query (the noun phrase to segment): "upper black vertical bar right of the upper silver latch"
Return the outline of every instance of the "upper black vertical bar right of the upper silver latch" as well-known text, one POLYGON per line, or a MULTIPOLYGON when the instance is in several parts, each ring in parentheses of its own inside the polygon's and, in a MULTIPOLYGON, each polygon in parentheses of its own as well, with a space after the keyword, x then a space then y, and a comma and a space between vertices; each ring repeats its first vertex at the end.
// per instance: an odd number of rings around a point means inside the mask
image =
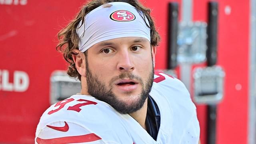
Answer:
POLYGON ((207 27, 207 66, 213 66, 217 62, 217 33, 218 33, 218 3, 208 3, 208 27, 207 27))

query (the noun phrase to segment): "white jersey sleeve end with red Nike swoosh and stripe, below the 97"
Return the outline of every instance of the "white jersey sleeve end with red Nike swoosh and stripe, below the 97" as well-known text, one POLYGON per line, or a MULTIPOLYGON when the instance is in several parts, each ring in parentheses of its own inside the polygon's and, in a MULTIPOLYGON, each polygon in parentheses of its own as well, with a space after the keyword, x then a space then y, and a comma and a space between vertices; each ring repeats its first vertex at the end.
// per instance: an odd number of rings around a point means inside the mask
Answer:
POLYGON ((52 122, 36 132, 36 144, 107 144, 100 136, 74 122, 52 122))

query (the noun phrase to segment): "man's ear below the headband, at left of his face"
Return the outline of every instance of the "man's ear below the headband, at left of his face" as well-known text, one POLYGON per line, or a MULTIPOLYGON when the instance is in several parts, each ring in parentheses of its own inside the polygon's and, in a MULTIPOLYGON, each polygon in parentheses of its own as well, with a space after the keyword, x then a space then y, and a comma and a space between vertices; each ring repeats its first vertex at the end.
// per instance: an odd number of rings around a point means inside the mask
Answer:
POLYGON ((74 53, 72 55, 72 58, 74 60, 74 63, 76 64, 76 70, 81 76, 85 76, 86 74, 86 68, 85 68, 85 55, 83 52, 80 52, 79 50, 72 50, 74 53))

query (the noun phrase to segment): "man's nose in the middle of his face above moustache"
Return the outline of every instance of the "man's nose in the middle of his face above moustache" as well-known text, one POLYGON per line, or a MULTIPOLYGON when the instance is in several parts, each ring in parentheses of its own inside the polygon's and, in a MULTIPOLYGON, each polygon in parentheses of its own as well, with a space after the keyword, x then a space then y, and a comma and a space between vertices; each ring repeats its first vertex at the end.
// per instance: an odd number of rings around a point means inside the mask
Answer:
POLYGON ((134 64, 131 55, 128 51, 120 52, 118 57, 117 69, 119 71, 132 71, 134 70, 134 64))

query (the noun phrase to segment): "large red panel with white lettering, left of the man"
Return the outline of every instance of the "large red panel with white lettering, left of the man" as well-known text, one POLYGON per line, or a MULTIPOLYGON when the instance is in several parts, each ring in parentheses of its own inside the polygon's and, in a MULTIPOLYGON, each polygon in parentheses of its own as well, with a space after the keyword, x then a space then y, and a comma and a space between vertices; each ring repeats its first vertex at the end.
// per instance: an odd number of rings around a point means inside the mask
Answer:
POLYGON ((82 0, 28 0, 27 5, 0 5, 0 70, 24 71, 25 92, 0 90, 0 143, 34 143, 36 125, 49 103, 50 74, 65 70, 56 52, 56 34, 74 17, 82 0))

